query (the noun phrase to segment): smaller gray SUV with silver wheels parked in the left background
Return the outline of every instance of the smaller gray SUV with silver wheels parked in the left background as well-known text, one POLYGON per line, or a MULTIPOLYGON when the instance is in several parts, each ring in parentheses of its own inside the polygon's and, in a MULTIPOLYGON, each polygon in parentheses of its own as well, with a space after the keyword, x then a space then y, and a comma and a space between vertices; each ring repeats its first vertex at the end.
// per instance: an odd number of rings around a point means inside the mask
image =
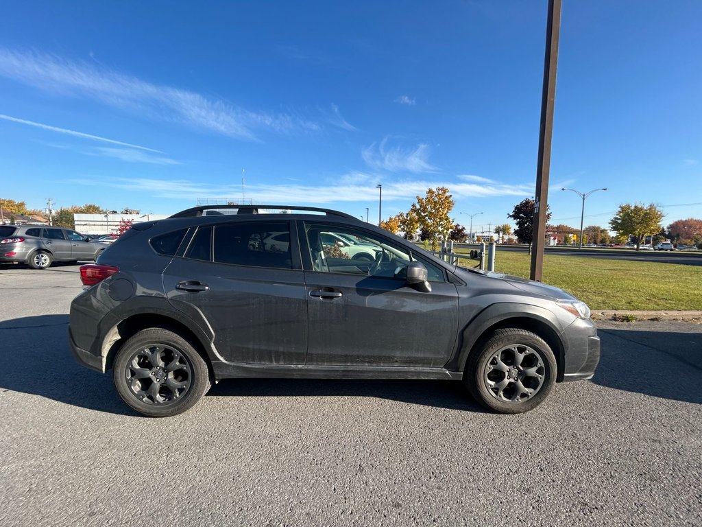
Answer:
POLYGON ((95 260, 106 247, 68 228, 0 226, 0 263, 27 263, 34 269, 46 269, 54 261, 95 260))

